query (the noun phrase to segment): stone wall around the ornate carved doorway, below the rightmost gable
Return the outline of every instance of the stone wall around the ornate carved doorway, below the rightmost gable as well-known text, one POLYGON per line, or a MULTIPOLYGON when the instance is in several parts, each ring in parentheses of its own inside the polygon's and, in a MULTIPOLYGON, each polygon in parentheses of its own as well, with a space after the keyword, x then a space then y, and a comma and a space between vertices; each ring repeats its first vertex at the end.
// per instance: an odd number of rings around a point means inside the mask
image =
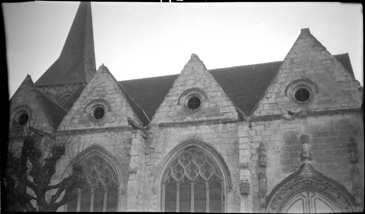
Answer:
MULTIPOLYGON (((258 147, 262 142, 267 154, 268 195, 281 180, 296 172, 302 152, 300 136, 309 135, 310 152, 314 168, 325 176, 344 185, 352 193, 352 178, 348 160, 347 143, 350 137, 364 136, 361 113, 318 115, 292 120, 257 121, 251 123, 253 164, 254 210, 260 211, 258 197, 258 147)), ((361 140, 358 144, 363 145, 361 140)), ((364 157, 364 147, 358 147, 364 157)), ((364 167, 361 169, 364 172, 364 167)), ((364 173, 362 174, 364 180, 364 173)), ((364 192, 364 189, 363 189, 364 192)))

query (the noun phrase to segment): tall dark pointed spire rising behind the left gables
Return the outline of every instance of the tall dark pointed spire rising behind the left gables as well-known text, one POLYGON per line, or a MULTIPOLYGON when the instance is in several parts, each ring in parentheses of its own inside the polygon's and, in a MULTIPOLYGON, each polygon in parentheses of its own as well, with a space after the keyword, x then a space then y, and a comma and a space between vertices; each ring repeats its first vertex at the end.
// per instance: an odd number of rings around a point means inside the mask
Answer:
POLYGON ((61 54, 35 85, 87 83, 95 71, 91 3, 81 2, 61 54))

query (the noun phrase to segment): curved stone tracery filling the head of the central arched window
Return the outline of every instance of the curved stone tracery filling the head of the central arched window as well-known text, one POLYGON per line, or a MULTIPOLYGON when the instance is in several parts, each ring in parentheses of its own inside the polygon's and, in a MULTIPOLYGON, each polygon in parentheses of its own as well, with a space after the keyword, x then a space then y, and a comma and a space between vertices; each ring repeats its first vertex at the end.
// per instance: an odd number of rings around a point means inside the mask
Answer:
POLYGON ((164 182, 222 180, 214 162, 194 148, 183 152, 166 170, 164 182))

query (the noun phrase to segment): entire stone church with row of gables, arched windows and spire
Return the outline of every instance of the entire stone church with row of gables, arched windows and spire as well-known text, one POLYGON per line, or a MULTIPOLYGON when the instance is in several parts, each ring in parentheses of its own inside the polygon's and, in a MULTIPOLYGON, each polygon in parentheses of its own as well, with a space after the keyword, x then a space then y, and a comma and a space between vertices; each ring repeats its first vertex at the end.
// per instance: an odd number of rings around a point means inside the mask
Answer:
POLYGON ((348 54, 308 28, 283 61, 207 70, 192 54, 180 74, 117 81, 81 2, 59 58, 11 98, 9 141, 83 143, 90 188, 59 211, 362 212, 363 117, 348 54))

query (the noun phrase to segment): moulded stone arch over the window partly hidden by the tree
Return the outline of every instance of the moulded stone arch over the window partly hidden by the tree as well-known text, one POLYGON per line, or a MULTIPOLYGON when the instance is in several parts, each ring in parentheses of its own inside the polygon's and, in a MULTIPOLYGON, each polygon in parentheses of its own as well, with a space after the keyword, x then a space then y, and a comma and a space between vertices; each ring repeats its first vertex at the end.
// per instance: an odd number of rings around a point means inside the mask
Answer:
MULTIPOLYGON (((87 157, 92 157, 94 155, 104 159, 107 163, 109 163, 110 167, 115 172, 118 180, 118 198, 119 198, 117 209, 118 211, 123 211, 122 210, 123 200, 121 200, 121 198, 122 195, 125 193, 127 184, 126 184, 126 179, 124 177, 123 169, 119 161, 109 151, 103 148, 103 146, 97 143, 91 144, 88 148, 81 151, 76 157, 74 157, 73 160, 84 159, 87 157)), ((71 173, 72 173, 72 161, 66 167, 59 181, 61 181, 63 178, 67 177, 71 173)))

